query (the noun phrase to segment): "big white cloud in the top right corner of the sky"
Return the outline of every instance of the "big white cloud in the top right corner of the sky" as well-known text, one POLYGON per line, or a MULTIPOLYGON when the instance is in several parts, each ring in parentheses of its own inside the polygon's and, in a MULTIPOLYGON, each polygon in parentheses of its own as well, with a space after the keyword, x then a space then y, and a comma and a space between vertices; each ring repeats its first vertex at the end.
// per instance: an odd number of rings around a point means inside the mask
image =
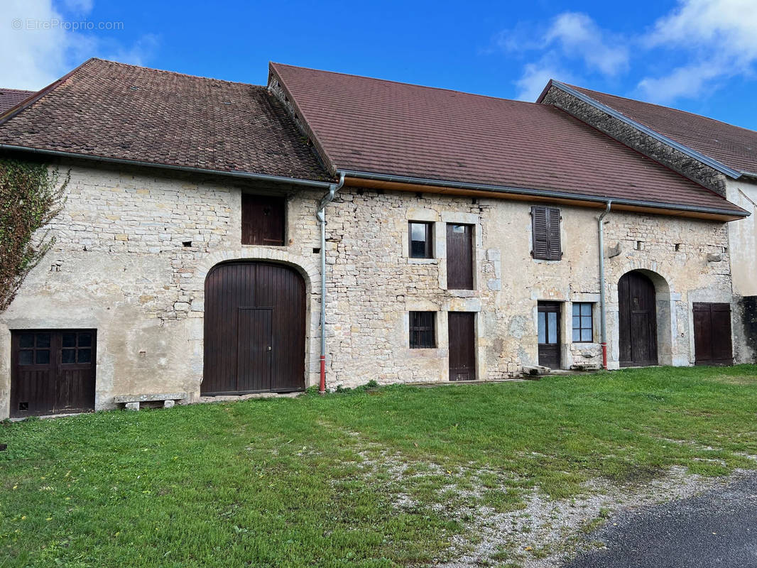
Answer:
POLYGON ((690 64, 639 82, 646 98, 669 102, 693 98, 718 80, 751 74, 757 61, 757 4, 754 0, 679 0, 643 38, 648 48, 684 51, 690 64))

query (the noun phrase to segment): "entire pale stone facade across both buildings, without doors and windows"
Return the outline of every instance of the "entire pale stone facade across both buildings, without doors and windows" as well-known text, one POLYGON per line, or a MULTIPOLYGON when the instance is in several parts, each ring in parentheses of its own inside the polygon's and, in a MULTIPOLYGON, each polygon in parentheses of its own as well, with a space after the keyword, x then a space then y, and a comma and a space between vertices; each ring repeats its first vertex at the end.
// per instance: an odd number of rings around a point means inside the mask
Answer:
MULTIPOLYGON (((72 164, 55 247, 0 314, 0 416, 8 415, 10 329, 96 328, 96 407, 114 395, 188 392, 202 379, 204 278, 221 261, 268 259, 307 282, 306 384, 317 384, 321 191, 160 177, 72 164), (241 192, 288 195, 284 247, 242 246, 241 192)), ((537 363, 537 301, 562 301, 563 367, 600 363, 598 210, 562 207, 562 261, 531 258, 531 204, 344 188, 327 208, 329 385, 447 381, 449 311, 475 312, 479 379, 537 363), (410 220, 434 223, 435 258, 408 257, 410 220), (469 223, 474 290, 447 289, 446 223, 469 223), (594 304, 594 342, 573 344, 572 302, 594 304), (435 311, 437 347, 410 349, 409 311, 435 311)), ((731 301, 726 226, 606 217, 610 363, 618 364, 617 282, 646 270, 658 292, 661 363, 691 364, 691 303, 731 301), (723 261, 708 261, 708 254, 723 261)))

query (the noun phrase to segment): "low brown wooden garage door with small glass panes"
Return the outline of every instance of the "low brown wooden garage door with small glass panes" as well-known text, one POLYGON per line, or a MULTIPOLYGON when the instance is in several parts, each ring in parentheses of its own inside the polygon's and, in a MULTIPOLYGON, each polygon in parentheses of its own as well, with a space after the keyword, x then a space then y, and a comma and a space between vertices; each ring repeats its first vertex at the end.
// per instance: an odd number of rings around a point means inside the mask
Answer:
POLYGON ((11 417, 95 409, 95 329, 11 332, 11 417))

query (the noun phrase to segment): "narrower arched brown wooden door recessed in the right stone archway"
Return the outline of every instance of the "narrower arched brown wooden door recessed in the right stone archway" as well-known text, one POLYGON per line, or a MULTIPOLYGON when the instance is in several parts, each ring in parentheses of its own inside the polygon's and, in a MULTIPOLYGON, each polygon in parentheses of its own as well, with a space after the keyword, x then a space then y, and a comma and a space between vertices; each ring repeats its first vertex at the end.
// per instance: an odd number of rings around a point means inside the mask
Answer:
POLYGON ((655 285, 640 272, 618 281, 620 366, 657 364, 657 307, 655 285))

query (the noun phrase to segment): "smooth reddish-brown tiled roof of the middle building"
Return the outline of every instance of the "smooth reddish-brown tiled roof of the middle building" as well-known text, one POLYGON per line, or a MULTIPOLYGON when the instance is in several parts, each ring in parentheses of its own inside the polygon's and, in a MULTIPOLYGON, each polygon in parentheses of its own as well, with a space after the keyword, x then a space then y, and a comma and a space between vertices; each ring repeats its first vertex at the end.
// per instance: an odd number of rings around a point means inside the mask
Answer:
POLYGON ((741 211, 557 108, 283 64, 271 71, 335 169, 741 211))

